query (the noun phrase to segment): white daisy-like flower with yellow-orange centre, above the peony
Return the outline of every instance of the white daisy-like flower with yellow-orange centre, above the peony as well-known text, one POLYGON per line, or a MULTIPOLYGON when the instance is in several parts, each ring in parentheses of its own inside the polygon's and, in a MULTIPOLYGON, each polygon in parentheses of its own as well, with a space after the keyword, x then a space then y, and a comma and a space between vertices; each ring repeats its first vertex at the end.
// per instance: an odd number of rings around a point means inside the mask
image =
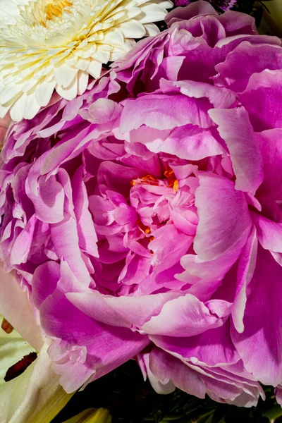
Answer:
POLYGON ((89 75, 159 30, 170 0, 0 0, 0 118, 33 118, 56 90, 73 99, 89 75))

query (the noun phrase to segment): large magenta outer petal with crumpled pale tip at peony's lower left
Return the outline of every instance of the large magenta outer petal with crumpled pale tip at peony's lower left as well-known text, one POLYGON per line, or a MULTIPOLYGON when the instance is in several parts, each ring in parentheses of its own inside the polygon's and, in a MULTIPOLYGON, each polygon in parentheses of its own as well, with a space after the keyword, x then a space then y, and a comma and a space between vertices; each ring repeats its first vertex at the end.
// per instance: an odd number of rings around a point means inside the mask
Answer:
POLYGON ((49 355, 67 392, 110 372, 149 343, 146 336, 99 323, 71 304, 65 292, 82 288, 63 262, 61 280, 39 309, 45 333, 59 339, 49 347, 49 355))

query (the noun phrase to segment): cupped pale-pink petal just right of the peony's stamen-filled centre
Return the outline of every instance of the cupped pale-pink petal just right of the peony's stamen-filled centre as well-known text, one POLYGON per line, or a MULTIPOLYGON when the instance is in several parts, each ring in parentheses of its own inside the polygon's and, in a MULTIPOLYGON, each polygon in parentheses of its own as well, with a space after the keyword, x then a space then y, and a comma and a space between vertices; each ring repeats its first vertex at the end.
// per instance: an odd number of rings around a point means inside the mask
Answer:
POLYGON ((203 260, 213 260, 227 250, 245 245, 252 221, 243 192, 231 180, 200 173, 195 193, 199 224, 194 250, 203 260), (209 207, 207 207, 207 204, 209 207))

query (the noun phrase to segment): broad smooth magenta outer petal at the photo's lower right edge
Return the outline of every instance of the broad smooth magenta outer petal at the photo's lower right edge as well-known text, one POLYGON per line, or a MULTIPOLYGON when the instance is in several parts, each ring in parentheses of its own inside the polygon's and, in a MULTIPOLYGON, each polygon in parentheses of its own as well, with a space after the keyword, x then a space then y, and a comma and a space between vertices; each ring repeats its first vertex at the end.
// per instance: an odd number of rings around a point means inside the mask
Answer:
POLYGON ((247 371, 262 384, 273 386, 282 380, 281 277, 281 266, 269 252, 259 248, 252 292, 245 307, 245 329, 238 333, 231 328, 233 343, 247 371))

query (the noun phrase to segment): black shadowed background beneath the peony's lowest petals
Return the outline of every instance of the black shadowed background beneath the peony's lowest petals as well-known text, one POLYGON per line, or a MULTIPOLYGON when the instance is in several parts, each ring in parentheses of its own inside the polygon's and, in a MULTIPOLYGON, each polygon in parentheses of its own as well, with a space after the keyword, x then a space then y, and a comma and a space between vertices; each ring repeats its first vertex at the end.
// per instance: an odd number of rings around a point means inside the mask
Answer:
POLYGON ((51 423, 63 423, 91 407, 107 408, 113 423, 282 423, 282 409, 273 388, 264 390, 266 401, 259 400, 257 407, 251 408, 215 403, 208 397, 200 400, 179 390, 159 395, 143 381, 137 363, 130 360, 75 393, 51 423))

